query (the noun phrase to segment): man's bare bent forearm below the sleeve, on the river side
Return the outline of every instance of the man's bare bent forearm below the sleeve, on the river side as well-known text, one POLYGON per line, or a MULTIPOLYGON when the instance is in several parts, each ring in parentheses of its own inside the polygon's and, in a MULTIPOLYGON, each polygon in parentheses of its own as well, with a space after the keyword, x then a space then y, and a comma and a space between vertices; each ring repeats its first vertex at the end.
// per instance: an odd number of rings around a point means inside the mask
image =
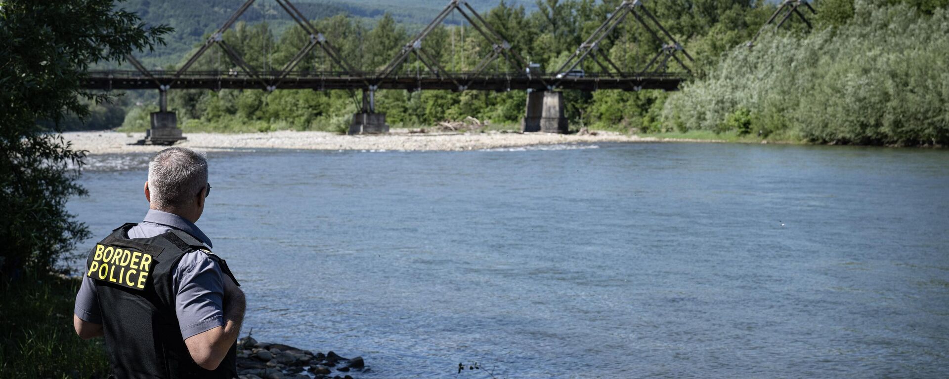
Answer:
POLYGON ((244 321, 246 301, 244 292, 227 275, 221 275, 224 284, 223 308, 224 326, 217 326, 199 334, 185 338, 184 343, 191 352, 191 358, 205 370, 217 369, 224 357, 231 351, 240 334, 244 321))

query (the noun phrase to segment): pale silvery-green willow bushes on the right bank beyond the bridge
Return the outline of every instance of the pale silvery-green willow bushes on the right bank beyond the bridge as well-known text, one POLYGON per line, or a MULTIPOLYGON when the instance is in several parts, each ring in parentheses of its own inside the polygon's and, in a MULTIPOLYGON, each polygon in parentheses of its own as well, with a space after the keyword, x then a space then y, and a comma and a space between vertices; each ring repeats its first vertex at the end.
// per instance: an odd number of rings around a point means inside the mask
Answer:
POLYGON ((859 1, 845 26, 735 48, 686 85, 663 118, 681 130, 733 128, 818 143, 949 143, 949 14, 859 1))

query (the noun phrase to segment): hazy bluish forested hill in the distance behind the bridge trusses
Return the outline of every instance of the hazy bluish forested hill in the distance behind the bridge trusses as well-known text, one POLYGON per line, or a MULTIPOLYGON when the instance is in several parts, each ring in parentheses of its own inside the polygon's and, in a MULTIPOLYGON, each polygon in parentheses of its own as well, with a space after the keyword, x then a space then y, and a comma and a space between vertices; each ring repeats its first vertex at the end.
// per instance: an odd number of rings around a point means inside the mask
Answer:
MULTIPOLYGON (((469 3, 478 11, 486 11, 499 1, 470 0, 469 3)), ((185 53, 224 24, 243 3, 244 0, 126 0, 118 3, 118 7, 138 13, 148 25, 175 28, 175 33, 166 39, 168 45, 139 56, 146 65, 157 67, 179 63, 185 53)), ((388 12, 401 24, 420 28, 435 18, 448 0, 292 0, 292 3, 311 20, 347 14, 364 20, 366 25, 374 25, 388 12)), ((530 0, 507 0, 507 3, 534 7, 530 0)), ((239 20, 250 24, 267 22, 277 30, 292 23, 273 0, 257 0, 239 20)))

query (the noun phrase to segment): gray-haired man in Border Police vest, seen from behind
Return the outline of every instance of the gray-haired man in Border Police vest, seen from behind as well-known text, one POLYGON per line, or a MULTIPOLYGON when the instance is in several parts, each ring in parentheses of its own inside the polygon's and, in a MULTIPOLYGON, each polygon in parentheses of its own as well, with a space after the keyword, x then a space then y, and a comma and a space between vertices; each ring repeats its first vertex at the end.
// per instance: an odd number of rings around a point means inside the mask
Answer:
POLYGON ((73 325, 84 339, 104 335, 119 379, 236 377, 244 294, 195 226, 210 192, 204 156, 161 151, 148 165, 144 221, 89 253, 73 325))

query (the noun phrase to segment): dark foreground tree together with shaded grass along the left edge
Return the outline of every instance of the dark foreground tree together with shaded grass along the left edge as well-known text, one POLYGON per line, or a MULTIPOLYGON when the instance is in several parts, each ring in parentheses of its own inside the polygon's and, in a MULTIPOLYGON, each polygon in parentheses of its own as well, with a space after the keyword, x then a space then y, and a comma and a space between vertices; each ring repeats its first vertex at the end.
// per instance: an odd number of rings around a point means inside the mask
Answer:
POLYGON ((71 331, 76 282, 49 274, 89 234, 65 209, 85 193, 74 181, 84 152, 50 132, 109 100, 80 89, 90 64, 151 48, 166 31, 143 29, 112 0, 0 0, 0 377, 103 371, 102 346, 71 331))

